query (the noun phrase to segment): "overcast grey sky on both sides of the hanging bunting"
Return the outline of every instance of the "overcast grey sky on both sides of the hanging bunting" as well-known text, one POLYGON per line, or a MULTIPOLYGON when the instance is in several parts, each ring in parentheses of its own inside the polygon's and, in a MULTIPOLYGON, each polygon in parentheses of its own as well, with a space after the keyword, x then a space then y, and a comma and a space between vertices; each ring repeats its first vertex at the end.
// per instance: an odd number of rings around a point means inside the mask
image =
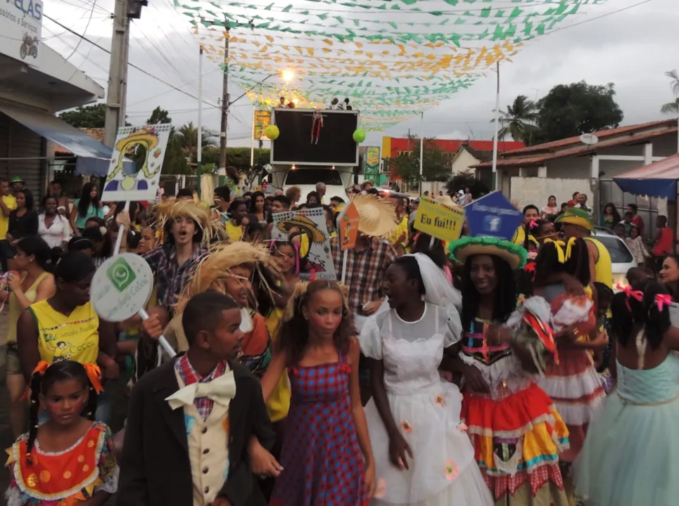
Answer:
MULTIPOLYGON (((662 119, 662 103, 672 100, 667 70, 679 68, 678 0, 607 0, 587 6, 583 14, 559 25, 562 30, 527 41, 511 63, 500 67, 500 107, 505 109, 519 94, 540 98, 556 84, 585 80, 588 84, 616 87, 616 101, 624 112, 623 124, 662 119), (613 13, 594 19, 606 13, 613 13), (591 19, 588 22, 585 20, 591 19), (574 23, 580 25, 571 26, 574 23)), ((129 62, 189 94, 174 91, 158 79, 129 69, 127 115, 132 124, 143 124, 157 105, 170 111, 172 122, 180 125, 197 120, 198 41, 183 15, 174 11, 170 0, 152 0, 141 20, 133 22, 129 62)), ((113 0, 46 0, 44 11, 75 32, 85 33, 110 48, 113 0), (89 20, 90 12, 92 13, 89 20), (88 25, 89 20, 89 25, 88 25)), ((44 20, 42 37, 46 44, 80 67, 106 89, 109 55, 99 48, 44 20)), ((203 124, 219 130, 220 113, 215 107, 222 93, 222 75, 214 63, 203 67, 203 124)), ((231 98, 242 91, 229 87, 231 98)), ((489 139, 493 136, 495 74, 488 72, 467 90, 427 110, 424 135, 439 138, 489 139)), ((250 145, 252 105, 242 98, 229 115, 229 145, 250 145)), ((409 129, 419 134, 420 120, 412 119, 386 131, 371 133, 366 145, 379 145, 381 136, 405 136, 409 129)))

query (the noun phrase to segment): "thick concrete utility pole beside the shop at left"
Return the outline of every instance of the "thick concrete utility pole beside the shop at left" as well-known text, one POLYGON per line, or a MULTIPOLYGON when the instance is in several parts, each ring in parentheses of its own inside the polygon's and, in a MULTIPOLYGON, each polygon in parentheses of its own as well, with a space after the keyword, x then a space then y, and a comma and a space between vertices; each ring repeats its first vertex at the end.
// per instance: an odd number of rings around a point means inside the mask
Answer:
POLYGON ((141 18, 141 8, 147 5, 147 0, 115 0, 103 137, 109 148, 113 148, 118 128, 125 126, 129 20, 141 18))

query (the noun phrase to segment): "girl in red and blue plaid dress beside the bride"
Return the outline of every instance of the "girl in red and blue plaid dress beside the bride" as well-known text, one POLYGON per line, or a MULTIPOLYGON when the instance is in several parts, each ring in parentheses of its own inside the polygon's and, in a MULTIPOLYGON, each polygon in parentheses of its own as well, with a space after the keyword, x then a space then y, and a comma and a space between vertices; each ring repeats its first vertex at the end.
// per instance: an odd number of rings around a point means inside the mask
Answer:
POLYGON ((292 398, 272 506, 361 506, 375 467, 358 385, 360 346, 336 281, 298 283, 269 368, 265 400, 283 375, 292 398))

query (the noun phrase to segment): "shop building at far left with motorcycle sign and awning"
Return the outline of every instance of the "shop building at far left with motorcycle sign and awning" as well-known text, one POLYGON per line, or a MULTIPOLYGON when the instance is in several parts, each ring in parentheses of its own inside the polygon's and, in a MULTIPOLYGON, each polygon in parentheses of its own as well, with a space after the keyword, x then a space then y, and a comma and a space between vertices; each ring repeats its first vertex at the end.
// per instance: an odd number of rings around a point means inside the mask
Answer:
POLYGON ((111 150, 54 116, 103 98, 104 90, 41 41, 42 1, 21 6, 8 1, 0 15, 0 177, 21 176, 39 197, 52 143, 82 157, 110 158, 111 150))

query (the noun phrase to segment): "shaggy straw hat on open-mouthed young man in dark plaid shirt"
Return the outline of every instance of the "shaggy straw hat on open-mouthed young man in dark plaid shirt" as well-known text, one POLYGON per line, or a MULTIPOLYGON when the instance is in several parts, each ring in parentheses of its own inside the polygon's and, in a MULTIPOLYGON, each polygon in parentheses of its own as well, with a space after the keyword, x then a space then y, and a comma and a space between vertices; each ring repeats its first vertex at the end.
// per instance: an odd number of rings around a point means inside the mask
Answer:
POLYGON ((167 223, 175 218, 189 218, 201 229, 203 245, 209 246, 215 242, 227 240, 226 229, 222 223, 222 216, 214 209, 193 200, 167 199, 156 206, 156 230, 164 230, 167 223))

